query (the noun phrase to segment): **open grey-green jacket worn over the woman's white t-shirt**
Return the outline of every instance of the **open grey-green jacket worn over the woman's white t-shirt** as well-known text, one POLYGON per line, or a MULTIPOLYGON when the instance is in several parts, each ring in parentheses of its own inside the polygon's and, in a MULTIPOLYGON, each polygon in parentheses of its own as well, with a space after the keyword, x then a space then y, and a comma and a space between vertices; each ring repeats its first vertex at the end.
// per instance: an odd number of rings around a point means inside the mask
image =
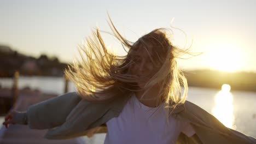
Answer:
MULTIPOLYGON (((104 124, 119 116, 129 98, 116 98, 110 103, 90 103, 71 92, 32 105, 15 119, 19 123, 27 123, 31 129, 49 129, 44 136, 46 139, 92 136, 107 132, 104 124)), ((171 115, 190 122, 203 143, 256 143, 253 137, 226 128, 210 113, 189 101, 174 109, 171 115)), ((195 142, 181 133, 176 143, 195 142)))

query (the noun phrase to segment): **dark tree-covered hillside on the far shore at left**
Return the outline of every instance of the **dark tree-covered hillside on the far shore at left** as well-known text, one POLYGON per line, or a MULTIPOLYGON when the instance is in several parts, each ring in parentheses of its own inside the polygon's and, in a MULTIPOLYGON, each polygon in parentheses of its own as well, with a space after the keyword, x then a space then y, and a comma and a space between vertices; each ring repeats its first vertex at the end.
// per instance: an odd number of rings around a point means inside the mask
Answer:
POLYGON ((57 57, 42 54, 38 58, 22 55, 8 46, 0 45, 0 77, 12 77, 16 70, 21 75, 62 76, 66 63, 57 57))

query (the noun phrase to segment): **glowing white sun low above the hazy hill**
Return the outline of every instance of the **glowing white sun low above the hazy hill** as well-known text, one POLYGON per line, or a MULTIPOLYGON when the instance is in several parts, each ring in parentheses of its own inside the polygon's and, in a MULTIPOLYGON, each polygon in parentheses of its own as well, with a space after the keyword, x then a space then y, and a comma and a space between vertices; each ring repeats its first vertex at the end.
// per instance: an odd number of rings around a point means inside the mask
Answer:
POLYGON ((207 55, 207 63, 211 69, 235 72, 245 64, 243 53, 231 44, 213 44, 207 55))

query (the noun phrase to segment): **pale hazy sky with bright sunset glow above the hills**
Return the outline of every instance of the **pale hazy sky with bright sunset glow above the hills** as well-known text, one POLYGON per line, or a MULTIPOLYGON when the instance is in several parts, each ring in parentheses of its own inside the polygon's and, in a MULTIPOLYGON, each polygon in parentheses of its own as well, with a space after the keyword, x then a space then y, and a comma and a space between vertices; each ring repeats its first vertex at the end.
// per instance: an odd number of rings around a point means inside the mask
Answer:
MULTIPOLYGON (((182 69, 256 72, 256 3, 252 1, 54 1, 0 0, 0 45, 26 55, 42 53, 62 62, 78 58, 96 26, 110 32, 107 11, 122 35, 136 41, 155 28, 171 26, 173 45, 202 55, 179 59, 182 69), (187 42, 186 42, 187 41, 187 42), (193 42, 193 43, 192 43, 193 42)), ((118 55, 125 52, 103 34, 118 55)))

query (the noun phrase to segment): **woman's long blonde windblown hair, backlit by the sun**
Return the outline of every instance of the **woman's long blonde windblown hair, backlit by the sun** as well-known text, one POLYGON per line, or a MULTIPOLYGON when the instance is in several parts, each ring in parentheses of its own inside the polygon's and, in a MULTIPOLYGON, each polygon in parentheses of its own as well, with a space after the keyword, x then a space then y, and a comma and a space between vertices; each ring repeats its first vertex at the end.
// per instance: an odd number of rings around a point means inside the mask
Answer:
POLYGON ((117 31, 110 19, 112 35, 117 38, 123 48, 129 49, 126 56, 117 56, 109 52, 97 28, 91 37, 86 38, 86 44, 79 45, 82 61, 74 62, 65 70, 65 74, 77 88, 78 94, 89 101, 107 101, 116 97, 127 97, 132 92, 139 91, 136 86, 139 77, 132 75, 130 68, 133 55, 139 47, 153 47, 153 64, 161 63, 161 67, 144 89, 149 89, 156 83, 160 85, 156 97, 158 103, 164 101, 165 107, 176 107, 183 104, 187 98, 188 84, 183 72, 178 68, 176 59, 188 49, 182 50, 173 46, 166 36, 167 29, 159 28, 143 35, 135 43, 126 40, 117 31), (184 92, 182 95, 182 86, 184 92))

